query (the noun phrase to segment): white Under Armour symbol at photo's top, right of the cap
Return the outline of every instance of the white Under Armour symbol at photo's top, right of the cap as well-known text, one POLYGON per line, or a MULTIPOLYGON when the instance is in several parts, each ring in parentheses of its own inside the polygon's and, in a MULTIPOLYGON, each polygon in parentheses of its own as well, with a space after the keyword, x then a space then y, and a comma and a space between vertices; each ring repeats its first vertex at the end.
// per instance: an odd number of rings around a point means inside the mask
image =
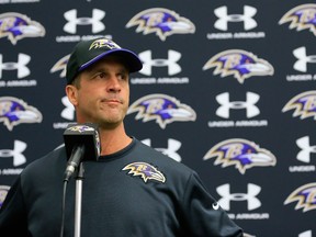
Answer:
POLYGON ((244 22, 244 29, 246 31, 257 26, 257 22, 252 19, 257 13, 257 9, 250 5, 244 5, 244 14, 229 14, 227 13, 227 7, 223 5, 214 10, 214 14, 218 18, 214 27, 221 31, 227 31, 228 22, 244 22))

